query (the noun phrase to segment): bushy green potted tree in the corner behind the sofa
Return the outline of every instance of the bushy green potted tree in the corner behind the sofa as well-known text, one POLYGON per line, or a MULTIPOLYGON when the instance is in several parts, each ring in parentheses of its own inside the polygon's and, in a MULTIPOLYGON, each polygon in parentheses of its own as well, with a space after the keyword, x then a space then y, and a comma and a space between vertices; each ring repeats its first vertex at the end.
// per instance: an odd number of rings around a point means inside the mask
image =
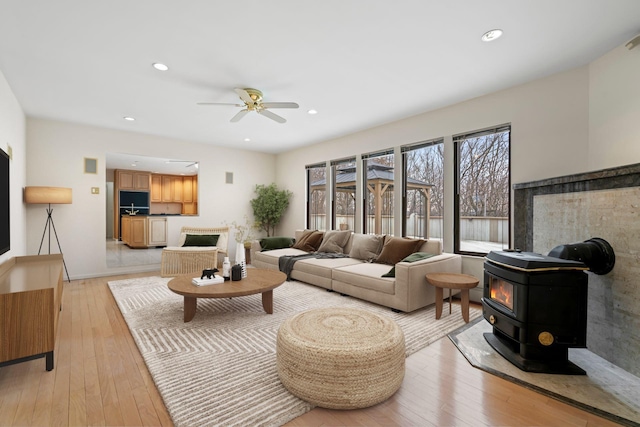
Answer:
POLYGON ((276 231, 282 215, 289 207, 289 200, 293 193, 289 190, 280 190, 275 183, 270 185, 256 185, 255 199, 251 200, 253 217, 256 220, 255 227, 267 232, 270 237, 276 231))

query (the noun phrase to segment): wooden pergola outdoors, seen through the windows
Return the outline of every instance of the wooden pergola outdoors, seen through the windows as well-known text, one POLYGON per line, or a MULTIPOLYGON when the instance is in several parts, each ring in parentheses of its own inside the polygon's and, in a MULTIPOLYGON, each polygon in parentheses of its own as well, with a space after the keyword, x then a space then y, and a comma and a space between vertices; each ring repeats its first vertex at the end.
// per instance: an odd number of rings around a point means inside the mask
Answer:
MULTIPOLYGON (((374 232, 376 234, 382 234, 382 207, 383 198, 385 194, 393 192, 394 188, 394 172, 392 166, 381 165, 375 162, 368 162, 367 165, 367 191, 373 195, 375 212, 374 214, 374 232)), ((342 193, 349 193, 349 195, 355 199, 356 193, 356 167, 347 166, 339 168, 336 171, 336 191, 342 193)), ((431 198, 430 192, 433 185, 419 181, 417 179, 407 179, 408 190, 418 190, 418 192, 425 198, 425 215, 424 215, 424 230, 425 236, 428 236, 429 231, 429 212, 431 210, 431 198)), ((312 182, 310 185, 311 191, 325 191, 326 179, 320 179, 312 182)))

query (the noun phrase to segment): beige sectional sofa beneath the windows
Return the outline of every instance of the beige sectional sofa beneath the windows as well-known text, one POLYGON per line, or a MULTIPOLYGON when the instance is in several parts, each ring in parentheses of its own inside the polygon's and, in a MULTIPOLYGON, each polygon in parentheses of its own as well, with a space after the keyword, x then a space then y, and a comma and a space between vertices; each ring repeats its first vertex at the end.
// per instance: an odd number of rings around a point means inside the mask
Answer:
MULTIPOLYGON (((326 238, 325 233, 325 238, 326 238)), ((296 231, 296 240, 303 230, 296 231)), ((353 253, 356 234, 350 233, 343 247, 345 254, 353 253)), ((362 236, 362 235, 361 235, 362 236)), ((384 236, 388 241, 391 236, 384 236)), ((396 238, 397 239, 397 238, 396 238)), ((361 238, 356 237, 357 241, 361 238)), ((430 258, 413 262, 397 262, 395 277, 382 277, 392 265, 379 264, 352 257, 334 259, 306 258, 295 262, 290 276, 294 280, 310 283, 352 297, 360 298, 394 310, 410 312, 435 302, 434 287, 427 283, 427 273, 460 273, 460 255, 442 252, 440 241, 425 241, 418 252, 433 254, 430 258)), ((292 247, 262 251, 260 241, 252 242, 251 264, 257 268, 279 269, 279 258, 284 255, 303 255, 306 251, 292 247)))

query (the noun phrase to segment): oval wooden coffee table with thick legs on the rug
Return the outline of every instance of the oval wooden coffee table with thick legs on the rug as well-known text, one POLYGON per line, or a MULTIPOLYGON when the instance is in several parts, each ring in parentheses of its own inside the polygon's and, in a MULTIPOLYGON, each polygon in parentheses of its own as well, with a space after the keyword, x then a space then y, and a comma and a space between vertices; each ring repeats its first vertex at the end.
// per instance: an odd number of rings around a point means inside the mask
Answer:
POLYGON ((191 279, 199 274, 184 274, 169 281, 169 289, 184 296, 184 321, 190 322, 196 315, 198 298, 231 298, 262 294, 262 307, 273 314, 273 290, 287 280, 280 271, 248 268, 247 277, 238 281, 227 281, 219 285, 196 286, 191 279))

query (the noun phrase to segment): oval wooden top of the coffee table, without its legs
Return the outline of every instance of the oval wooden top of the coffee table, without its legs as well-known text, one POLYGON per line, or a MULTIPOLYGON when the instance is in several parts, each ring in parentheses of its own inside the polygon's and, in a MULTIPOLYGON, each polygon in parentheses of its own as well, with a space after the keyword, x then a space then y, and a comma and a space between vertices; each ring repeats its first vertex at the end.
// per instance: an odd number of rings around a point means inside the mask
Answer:
POLYGON ((168 283, 173 292, 194 298, 231 298, 253 295, 277 288, 287 280, 287 275, 275 270, 247 268, 247 277, 237 281, 226 281, 218 285, 196 286, 191 279, 199 274, 183 274, 168 283))

